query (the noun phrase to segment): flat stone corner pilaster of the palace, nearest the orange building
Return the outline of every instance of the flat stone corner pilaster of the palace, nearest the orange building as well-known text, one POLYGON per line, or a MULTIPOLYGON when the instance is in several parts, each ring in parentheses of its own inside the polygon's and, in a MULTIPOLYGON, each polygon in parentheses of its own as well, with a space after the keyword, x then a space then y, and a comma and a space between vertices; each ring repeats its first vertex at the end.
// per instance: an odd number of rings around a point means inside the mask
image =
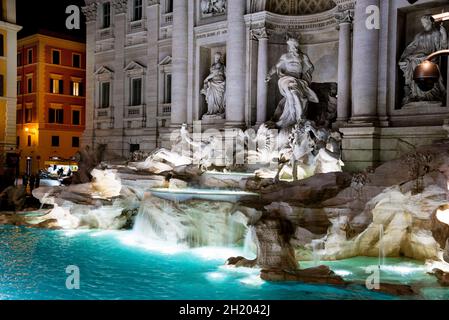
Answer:
POLYGON ((81 138, 81 146, 94 147, 95 134, 95 34, 97 31, 97 3, 83 7, 86 16, 86 130, 81 138))

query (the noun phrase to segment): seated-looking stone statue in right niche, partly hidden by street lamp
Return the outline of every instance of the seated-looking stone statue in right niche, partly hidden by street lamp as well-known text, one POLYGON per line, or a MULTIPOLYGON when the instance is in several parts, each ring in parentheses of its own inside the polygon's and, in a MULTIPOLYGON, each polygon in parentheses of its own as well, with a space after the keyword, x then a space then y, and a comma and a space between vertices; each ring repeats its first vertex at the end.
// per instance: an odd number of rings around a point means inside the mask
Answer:
POLYGON ((440 81, 428 92, 422 91, 413 80, 416 67, 427 56, 435 51, 448 48, 447 31, 443 25, 437 26, 431 15, 423 16, 421 23, 424 31, 416 35, 415 40, 405 49, 399 62, 405 76, 404 105, 418 101, 443 101, 446 95, 446 88, 441 76, 440 81))

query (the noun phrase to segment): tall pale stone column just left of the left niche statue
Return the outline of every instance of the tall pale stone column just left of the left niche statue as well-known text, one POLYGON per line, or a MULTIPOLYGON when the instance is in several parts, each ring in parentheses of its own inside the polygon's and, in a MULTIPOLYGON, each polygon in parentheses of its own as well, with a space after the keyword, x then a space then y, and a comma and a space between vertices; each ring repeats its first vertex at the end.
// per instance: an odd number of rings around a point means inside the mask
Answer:
POLYGON ((187 122, 188 1, 173 1, 173 71, 171 125, 187 122))

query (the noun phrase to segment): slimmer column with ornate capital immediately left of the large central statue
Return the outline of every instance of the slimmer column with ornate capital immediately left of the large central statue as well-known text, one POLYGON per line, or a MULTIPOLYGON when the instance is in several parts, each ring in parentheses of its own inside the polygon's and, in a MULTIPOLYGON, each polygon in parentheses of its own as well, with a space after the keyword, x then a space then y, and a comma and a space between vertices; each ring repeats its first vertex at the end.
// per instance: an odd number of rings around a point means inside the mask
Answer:
POLYGON ((257 61, 257 125, 267 121, 268 84, 268 33, 265 28, 254 30, 254 37, 259 40, 257 61))

